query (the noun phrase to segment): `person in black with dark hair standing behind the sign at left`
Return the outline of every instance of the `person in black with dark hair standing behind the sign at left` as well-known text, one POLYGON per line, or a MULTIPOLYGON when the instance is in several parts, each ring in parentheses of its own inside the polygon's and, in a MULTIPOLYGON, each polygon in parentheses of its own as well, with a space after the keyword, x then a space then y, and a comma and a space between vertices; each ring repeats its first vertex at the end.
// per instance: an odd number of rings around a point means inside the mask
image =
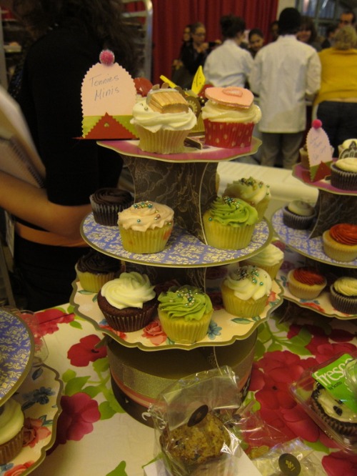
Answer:
POLYGON ((121 158, 82 136, 81 84, 103 49, 133 77, 136 42, 121 0, 1 0, 34 38, 18 101, 46 169, 44 188, 0 172, 0 207, 15 217, 14 262, 33 311, 68 302, 74 265, 88 252, 89 196, 116 187, 121 158))

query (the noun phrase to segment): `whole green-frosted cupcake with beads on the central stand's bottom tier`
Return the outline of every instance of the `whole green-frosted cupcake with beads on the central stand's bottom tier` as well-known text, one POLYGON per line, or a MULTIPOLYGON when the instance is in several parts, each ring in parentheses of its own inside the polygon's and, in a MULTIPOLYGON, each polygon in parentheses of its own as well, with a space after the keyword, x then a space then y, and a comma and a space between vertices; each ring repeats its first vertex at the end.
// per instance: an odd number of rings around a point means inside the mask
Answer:
POLYGON ((193 286, 170 287, 159 295, 159 319, 169 339, 193 344, 206 336, 213 314, 211 299, 193 286))

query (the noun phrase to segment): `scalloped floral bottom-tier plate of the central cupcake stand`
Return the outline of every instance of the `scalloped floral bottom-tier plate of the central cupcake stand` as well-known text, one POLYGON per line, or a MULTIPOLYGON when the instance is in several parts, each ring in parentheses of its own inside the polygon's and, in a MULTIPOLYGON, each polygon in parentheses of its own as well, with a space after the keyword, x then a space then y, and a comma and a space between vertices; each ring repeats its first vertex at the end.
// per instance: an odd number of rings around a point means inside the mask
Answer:
POLYGON ((83 317, 87 321, 94 324, 96 329, 101 330, 104 334, 108 334, 120 344, 126 347, 139 347, 139 349, 152 351, 162 349, 184 349, 190 350, 196 347, 211 347, 212 345, 228 345, 233 344, 236 340, 246 339, 249 337, 258 325, 268 319, 271 312, 280 306, 283 302, 283 289, 280 284, 273 281, 273 287, 266 308, 260 316, 251 319, 244 319, 228 314, 220 306, 215 306, 216 299, 221 300, 220 293, 210 294, 213 307, 217 309, 213 312, 210 327, 206 337, 194 344, 178 344, 171 341, 161 329, 159 317, 150 322, 144 329, 136 332, 119 332, 112 329, 106 322, 104 315, 96 302, 97 294, 84 290, 79 282, 73 282, 74 292, 71 295, 71 304, 75 308, 77 315, 83 317))

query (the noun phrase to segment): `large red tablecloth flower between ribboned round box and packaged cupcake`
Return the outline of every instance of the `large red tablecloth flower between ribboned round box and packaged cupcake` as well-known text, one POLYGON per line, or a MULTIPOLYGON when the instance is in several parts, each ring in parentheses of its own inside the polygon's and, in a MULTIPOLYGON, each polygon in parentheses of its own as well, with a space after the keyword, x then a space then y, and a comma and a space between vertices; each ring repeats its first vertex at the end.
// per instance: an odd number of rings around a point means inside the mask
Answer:
POLYGON ((308 442, 320 440, 328 447, 336 447, 289 390, 291 383, 315 364, 316 360, 311 357, 301 359, 288 351, 266 352, 253 364, 250 390, 256 391, 255 399, 261 404, 263 420, 283 432, 287 440, 301 437, 308 442))

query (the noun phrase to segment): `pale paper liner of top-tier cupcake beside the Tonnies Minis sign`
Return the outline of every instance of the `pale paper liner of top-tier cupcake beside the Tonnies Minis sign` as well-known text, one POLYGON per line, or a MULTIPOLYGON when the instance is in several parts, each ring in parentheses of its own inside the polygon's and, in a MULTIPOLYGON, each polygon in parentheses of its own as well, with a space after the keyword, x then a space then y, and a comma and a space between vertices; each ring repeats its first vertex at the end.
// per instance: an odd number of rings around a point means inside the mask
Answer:
POLYGON ((139 147, 145 152, 156 154, 178 154, 183 152, 185 141, 191 129, 186 131, 159 130, 151 132, 144 127, 135 124, 139 137, 139 147))

